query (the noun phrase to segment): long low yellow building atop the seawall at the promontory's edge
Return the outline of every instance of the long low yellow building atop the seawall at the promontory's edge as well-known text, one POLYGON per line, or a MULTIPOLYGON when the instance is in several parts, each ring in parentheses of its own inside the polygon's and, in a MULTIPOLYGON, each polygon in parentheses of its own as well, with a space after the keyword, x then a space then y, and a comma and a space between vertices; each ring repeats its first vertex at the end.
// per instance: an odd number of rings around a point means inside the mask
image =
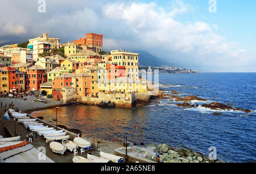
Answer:
POLYGON ((133 78, 119 77, 112 80, 99 80, 100 91, 112 91, 118 93, 130 93, 130 92, 146 92, 147 84, 133 78))

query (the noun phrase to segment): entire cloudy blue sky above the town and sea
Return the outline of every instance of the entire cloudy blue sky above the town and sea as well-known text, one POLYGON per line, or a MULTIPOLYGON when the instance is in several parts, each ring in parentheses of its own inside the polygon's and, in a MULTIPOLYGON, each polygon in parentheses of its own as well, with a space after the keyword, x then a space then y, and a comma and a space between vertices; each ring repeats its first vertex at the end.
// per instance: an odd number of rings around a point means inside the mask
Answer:
POLYGON ((200 72, 256 72, 255 0, 44 0, 39 12, 40 1, 1 1, 0 44, 93 32, 104 50, 144 50, 200 72))

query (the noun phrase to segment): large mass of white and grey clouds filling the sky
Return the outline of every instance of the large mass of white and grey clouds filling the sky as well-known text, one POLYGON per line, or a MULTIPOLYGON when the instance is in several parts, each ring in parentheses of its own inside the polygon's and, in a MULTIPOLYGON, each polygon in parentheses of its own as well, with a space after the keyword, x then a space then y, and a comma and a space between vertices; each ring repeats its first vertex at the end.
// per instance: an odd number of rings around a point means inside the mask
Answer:
POLYGON ((3 14, 9 12, 10 16, 0 17, 0 40, 10 35, 30 39, 48 32, 49 36, 67 42, 96 32, 104 35, 106 50, 146 50, 175 65, 204 71, 233 71, 241 67, 246 70, 253 63, 256 70, 254 59, 239 43, 229 43, 217 34, 217 24, 205 23, 203 19, 177 21, 176 16, 193 15, 198 10, 181 0, 172 1, 164 9, 154 2, 134 0, 47 1, 46 14, 37 12, 37 3, 24 1, 3 2, 12 8, 2 9, 3 14))

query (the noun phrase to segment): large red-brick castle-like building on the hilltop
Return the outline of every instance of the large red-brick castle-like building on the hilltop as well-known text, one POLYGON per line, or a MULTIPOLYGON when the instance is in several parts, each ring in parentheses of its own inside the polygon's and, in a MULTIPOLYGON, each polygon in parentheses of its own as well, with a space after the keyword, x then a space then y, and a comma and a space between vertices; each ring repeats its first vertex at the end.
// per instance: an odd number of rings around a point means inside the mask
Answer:
POLYGON ((103 35, 98 35, 95 33, 87 33, 84 38, 80 38, 79 40, 74 40, 74 44, 76 45, 87 45, 94 52, 101 52, 103 49, 103 35))

